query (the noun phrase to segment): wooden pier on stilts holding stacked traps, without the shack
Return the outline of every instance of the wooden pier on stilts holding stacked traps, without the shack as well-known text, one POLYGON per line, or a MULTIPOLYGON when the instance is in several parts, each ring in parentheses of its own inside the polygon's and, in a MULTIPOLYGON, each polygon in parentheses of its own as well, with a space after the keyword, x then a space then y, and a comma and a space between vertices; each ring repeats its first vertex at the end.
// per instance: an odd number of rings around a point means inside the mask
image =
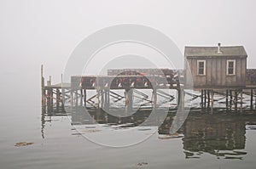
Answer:
POLYGON ((256 70, 247 70, 247 85, 245 87, 230 88, 194 88, 196 93, 188 91, 183 86, 183 80, 180 81, 177 71, 170 70, 172 75, 165 76, 143 76, 143 75, 120 75, 120 76, 72 76, 70 83, 51 83, 49 80, 44 82, 42 65, 42 109, 48 114, 62 114, 65 107, 86 106, 90 108, 109 109, 110 99, 113 102, 125 100, 125 106, 132 109, 134 97, 143 99, 152 108, 157 107, 157 99, 165 98, 172 102, 177 99, 178 104, 183 104, 185 95, 192 98, 192 101, 200 99, 200 107, 194 108, 212 112, 214 108, 220 108, 227 111, 255 110, 256 107, 256 83, 254 76, 256 70), (149 77, 151 79, 149 79, 149 77), (164 81, 164 79, 167 81, 164 81), (154 84, 152 84, 154 82, 154 84), (152 92, 151 95, 143 93, 144 89, 152 92), (164 92, 165 89, 176 90, 177 96, 164 92), (119 94, 116 91, 124 91, 119 94), (89 91, 96 91, 90 98, 87 97, 89 91), (249 105, 245 98, 250 99, 249 105), (222 100, 222 101, 221 101, 222 100), (214 106, 215 105, 215 106, 214 106), (224 106, 220 106, 224 105, 224 106), (218 107, 219 106, 219 107, 218 107))

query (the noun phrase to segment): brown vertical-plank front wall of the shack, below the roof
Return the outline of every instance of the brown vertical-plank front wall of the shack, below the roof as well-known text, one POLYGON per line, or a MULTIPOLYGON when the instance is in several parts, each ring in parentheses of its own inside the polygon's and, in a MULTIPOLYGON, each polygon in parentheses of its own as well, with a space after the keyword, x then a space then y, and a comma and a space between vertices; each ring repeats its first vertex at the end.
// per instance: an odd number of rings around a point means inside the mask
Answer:
MULTIPOLYGON (((239 87, 245 86, 247 59, 245 57, 187 57, 186 75, 189 69, 194 87, 239 87), (235 76, 226 75, 227 60, 236 60, 235 76), (206 60, 206 75, 197 75, 197 60, 206 60)), ((189 81, 186 81, 189 82, 189 81)), ((188 83, 187 83, 188 84, 188 83)))

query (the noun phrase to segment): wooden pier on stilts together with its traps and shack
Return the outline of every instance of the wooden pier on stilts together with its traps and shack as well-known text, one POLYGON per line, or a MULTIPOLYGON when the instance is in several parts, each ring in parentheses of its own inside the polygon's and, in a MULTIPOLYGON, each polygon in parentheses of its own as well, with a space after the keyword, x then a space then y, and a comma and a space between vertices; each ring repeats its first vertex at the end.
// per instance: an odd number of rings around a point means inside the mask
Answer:
POLYGON ((125 100, 125 107, 132 109, 137 97, 152 108, 160 106, 160 98, 176 100, 173 105, 184 110, 185 97, 189 96, 198 102, 192 106, 210 112, 217 107, 227 111, 256 110, 256 69, 247 69, 247 53, 242 46, 221 47, 219 43, 218 47, 186 47, 184 58, 184 70, 108 70, 107 76, 71 76, 69 83, 62 82, 61 77, 58 84, 52 84, 51 76, 45 84, 42 65, 42 109, 64 112, 66 107, 83 105, 108 110, 110 100, 125 100), (89 96, 89 91, 96 93, 89 96))

